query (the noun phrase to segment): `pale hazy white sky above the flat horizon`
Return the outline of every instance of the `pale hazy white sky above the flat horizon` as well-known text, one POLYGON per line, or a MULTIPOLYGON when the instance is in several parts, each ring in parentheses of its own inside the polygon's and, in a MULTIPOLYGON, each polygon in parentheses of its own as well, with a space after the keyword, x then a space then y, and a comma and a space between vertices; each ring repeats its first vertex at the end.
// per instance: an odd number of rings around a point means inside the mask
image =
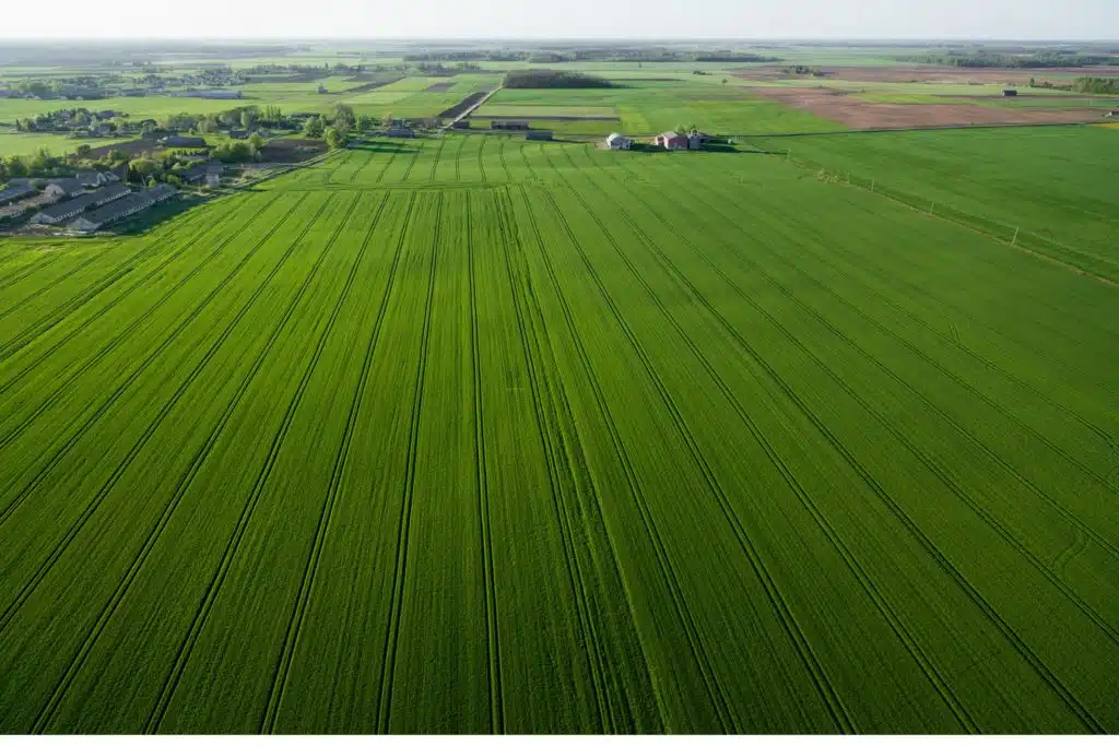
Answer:
POLYGON ((1119 37, 1119 0, 0 0, 0 38, 1119 37))

